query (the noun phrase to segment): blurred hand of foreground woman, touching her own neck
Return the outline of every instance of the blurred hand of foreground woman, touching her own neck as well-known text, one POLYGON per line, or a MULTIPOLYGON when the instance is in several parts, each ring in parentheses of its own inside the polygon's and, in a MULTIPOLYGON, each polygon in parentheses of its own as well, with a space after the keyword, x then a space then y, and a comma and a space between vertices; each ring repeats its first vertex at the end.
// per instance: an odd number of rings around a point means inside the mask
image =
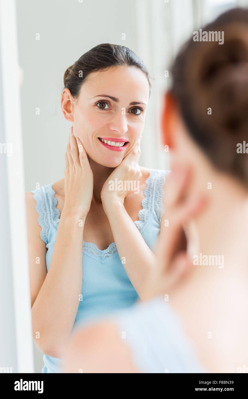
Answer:
MULTIPOLYGON (((165 183, 164 209, 158 243, 158 268, 154 270, 145 299, 158 294, 168 294, 192 270, 193 258, 189 253, 190 224, 207 203, 206 198, 193 193, 188 195, 191 179, 189 168, 172 168, 165 183), (168 223, 164 223, 168 221, 168 223), (187 229, 186 229, 187 227, 187 229)), ((192 243, 190 243, 192 244, 192 243)))

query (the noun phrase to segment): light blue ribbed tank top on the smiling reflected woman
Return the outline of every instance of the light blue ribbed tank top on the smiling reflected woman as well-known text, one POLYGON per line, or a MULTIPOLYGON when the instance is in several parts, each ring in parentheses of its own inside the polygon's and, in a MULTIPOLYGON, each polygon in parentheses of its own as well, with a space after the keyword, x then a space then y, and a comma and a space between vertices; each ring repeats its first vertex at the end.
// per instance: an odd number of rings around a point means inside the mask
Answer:
MULTIPOLYGON (((169 171, 151 169, 146 179, 142 209, 135 221, 143 239, 154 252, 164 213, 164 182, 169 171)), ((53 183, 33 190, 36 210, 39 213, 41 239, 47 247, 47 271, 59 225, 60 212, 52 188, 53 183)), ((80 327, 87 327, 111 314, 133 306, 139 296, 127 277, 115 243, 100 251, 93 243, 83 242, 82 295, 71 334, 80 327)), ((61 373, 62 358, 44 355, 43 373, 61 373)))

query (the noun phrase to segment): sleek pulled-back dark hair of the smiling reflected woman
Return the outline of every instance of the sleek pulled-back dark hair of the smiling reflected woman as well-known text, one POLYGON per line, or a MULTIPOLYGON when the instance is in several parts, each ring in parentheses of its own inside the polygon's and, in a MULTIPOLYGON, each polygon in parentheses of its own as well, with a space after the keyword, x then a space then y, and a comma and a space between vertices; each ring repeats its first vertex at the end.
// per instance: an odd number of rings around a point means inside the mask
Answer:
POLYGON ((109 43, 93 47, 68 67, 64 73, 64 87, 67 87, 74 99, 77 99, 80 88, 90 73, 119 65, 136 67, 144 72, 150 90, 150 75, 143 61, 129 48, 109 43))

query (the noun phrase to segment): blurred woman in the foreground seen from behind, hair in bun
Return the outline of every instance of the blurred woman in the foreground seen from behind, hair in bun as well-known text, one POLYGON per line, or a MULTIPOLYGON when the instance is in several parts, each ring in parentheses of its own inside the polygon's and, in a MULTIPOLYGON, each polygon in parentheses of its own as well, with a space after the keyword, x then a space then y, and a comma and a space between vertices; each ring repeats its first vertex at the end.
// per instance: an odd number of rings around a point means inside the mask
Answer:
POLYGON ((147 300, 76 334, 66 372, 247 372, 248 10, 203 30, 225 41, 190 38, 172 67, 163 114, 172 174, 147 300), (176 284, 172 267, 188 270, 176 284))

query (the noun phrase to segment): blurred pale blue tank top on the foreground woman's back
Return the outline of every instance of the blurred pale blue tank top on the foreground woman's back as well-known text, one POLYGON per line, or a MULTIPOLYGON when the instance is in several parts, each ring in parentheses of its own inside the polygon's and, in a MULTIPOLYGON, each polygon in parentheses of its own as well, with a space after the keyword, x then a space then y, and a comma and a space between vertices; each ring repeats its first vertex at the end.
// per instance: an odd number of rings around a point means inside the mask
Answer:
POLYGON ((209 373, 185 335, 180 315, 163 296, 123 310, 112 322, 140 373, 209 373))

